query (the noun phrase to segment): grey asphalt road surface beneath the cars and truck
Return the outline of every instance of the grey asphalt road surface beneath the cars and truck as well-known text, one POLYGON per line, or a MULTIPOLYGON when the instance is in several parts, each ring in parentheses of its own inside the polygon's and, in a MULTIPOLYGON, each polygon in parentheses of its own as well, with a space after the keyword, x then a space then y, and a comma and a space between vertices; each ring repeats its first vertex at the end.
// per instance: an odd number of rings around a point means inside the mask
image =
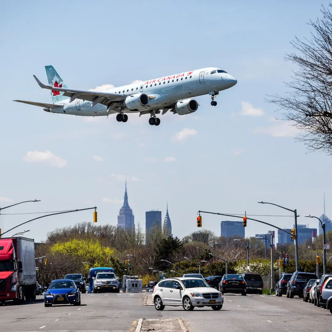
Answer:
MULTIPOLYGON (((143 305, 144 293, 82 294, 82 305, 45 308, 43 297, 25 305, 0 306, 0 332, 12 331, 135 331, 140 318, 182 318, 192 332, 331 331, 332 315, 297 297, 225 295, 223 308, 143 305)), ((166 331, 166 330, 162 330, 166 331)))

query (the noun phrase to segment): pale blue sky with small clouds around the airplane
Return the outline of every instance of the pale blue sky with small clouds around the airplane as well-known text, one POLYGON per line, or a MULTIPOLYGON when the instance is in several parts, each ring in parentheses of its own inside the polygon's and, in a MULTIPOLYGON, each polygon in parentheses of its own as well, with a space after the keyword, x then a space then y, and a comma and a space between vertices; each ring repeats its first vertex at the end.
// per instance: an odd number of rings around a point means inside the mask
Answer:
MULTIPOLYGON (((323 1, 327 5, 327 1, 323 1)), ((284 61, 290 40, 309 36, 310 19, 320 16, 314 1, 2 2, 0 21, 1 99, 0 206, 30 199, 2 211, 3 231, 33 218, 5 215, 98 207, 98 222, 116 225, 127 178, 135 224, 145 227, 145 211, 166 202, 173 233, 196 227, 199 209, 226 213, 289 214, 259 205, 269 201, 321 215, 330 202, 331 157, 307 153, 296 130, 266 103, 283 94, 296 67, 284 61), (217 107, 197 98, 192 115, 115 116, 89 119, 50 114, 15 103, 50 103, 44 65, 52 64, 71 88, 120 86, 206 66, 225 69, 238 80, 221 92, 217 107), (91 120, 91 119, 90 119, 91 120)), ((203 216, 203 227, 220 234, 220 218, 203 216)), ((22 228, 45 239, 55 227, 92 221, 92 212, 40 219, 22 228)), ((262 220, 290 228, 288 217, 262 220)), ((317 223, 300 218, 299 223, 317 223)), ((271 227, 248 222, 246 235, 271 227)), ((12 235, 12 234, 9 234, 12 235)))

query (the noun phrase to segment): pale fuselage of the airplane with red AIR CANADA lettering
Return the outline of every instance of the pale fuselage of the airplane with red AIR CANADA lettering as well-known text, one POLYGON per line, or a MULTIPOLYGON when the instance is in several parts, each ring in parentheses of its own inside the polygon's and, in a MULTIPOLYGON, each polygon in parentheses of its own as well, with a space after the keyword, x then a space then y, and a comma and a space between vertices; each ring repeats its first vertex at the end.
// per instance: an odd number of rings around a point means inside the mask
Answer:
MULTIPOLYGON (((206 94, 214 95, 237 83, 232 75, 220 71, 222 70, 216 67, 201 68, 190 72, 142 81, 141 83, 115 87, 104 92, 121 95, 144 93, 149 97, 148 104, 145 107, 134 110, 125 107, 123 113, 153 111, 163 109, 179 100, 191 99, 206 94), (213 71, 216 72, 212 73, 213 71)), ((93 117, 119 113, 119 111, 108 109, 107 106, 103 104, 96 104, 91 107, 91 101, 82 99, 75 99, 72 102, 68 99, 56 104, 63 107, 51 108, 49 112, 93 117)))

